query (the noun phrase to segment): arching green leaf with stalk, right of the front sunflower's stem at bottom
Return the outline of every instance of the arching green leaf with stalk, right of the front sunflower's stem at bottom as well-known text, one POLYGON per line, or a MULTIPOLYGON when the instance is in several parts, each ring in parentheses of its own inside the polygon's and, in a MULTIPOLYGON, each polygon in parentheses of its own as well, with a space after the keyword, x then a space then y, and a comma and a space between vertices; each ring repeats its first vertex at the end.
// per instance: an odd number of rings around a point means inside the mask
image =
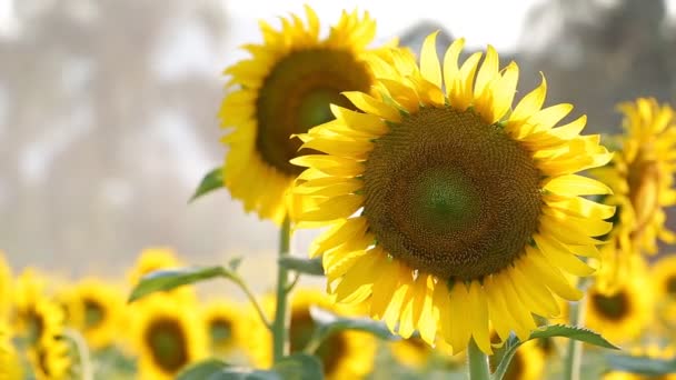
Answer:
MULTIPOLYGON (((604 348, 609 348, 614 350, 618 350, 616 346, 608 342, 604 337, 598 333, 578 328, 573 326, 564 326, 564 324, 553 324, 553 326, 543 326, 539 329, 533 331, 528 340, 533 339, 543 339, 543 338, 554 338, 554 337, 565 337, 574 340, 579 340, 585 343, 599 346, 604 348)), ((509 339, 505 342, 503 347, 503 357, 500 362, 497 366, 495 373, 493 374, 494 380, 501 380, 505 373, 507 373, 507 369, 509 368, 509 363, 511 359, 516 354, 516 350, 525 342, 520 341, 517 337, 510 336, 509 339)))

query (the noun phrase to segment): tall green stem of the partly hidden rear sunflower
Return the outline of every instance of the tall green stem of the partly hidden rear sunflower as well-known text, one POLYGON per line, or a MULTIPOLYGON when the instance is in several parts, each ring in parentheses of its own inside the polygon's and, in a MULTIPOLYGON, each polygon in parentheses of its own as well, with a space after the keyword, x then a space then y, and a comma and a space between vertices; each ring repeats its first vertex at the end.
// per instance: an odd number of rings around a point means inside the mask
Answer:
MULTIPOLYGON (((289 254, 291 242, 291 221, 287 216, 279 233, 279 257, 289 254)), ((284 358, 287 350, 287 287, 288 272, 284 266, 277 267, 277 310, 272 322, 272 358, 275 362, 284 358)))

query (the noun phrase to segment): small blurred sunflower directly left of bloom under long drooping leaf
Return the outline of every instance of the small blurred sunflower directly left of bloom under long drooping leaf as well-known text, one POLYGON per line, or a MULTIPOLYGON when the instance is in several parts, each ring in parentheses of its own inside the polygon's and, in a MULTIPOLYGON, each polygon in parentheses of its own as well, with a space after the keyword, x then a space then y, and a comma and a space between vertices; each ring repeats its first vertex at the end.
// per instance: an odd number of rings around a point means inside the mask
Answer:
POLYGON ((120 290, 90 278, 76 284, 69 294, 68 314, 93 350, 112 344, 123 322, 125 300, 120 290))

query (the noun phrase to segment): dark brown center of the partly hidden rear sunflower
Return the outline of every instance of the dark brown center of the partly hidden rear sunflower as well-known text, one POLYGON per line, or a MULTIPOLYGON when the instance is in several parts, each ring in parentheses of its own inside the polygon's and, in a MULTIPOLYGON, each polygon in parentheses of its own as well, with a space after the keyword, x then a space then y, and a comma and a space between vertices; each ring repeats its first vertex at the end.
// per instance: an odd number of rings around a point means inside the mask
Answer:
MULTIPOLYGON (((291 134, 334 119, 329 104, 352 108, 342 91, 368 91, 371 74, 345 50, 295 51, 280 60, 265 79, 256 101, 256 149, 284 173, 297 176, 302 168, 289 160, 299 154, 300 141, 291 134)), ((307 153, 307 152, 306 152, 307 153)))

